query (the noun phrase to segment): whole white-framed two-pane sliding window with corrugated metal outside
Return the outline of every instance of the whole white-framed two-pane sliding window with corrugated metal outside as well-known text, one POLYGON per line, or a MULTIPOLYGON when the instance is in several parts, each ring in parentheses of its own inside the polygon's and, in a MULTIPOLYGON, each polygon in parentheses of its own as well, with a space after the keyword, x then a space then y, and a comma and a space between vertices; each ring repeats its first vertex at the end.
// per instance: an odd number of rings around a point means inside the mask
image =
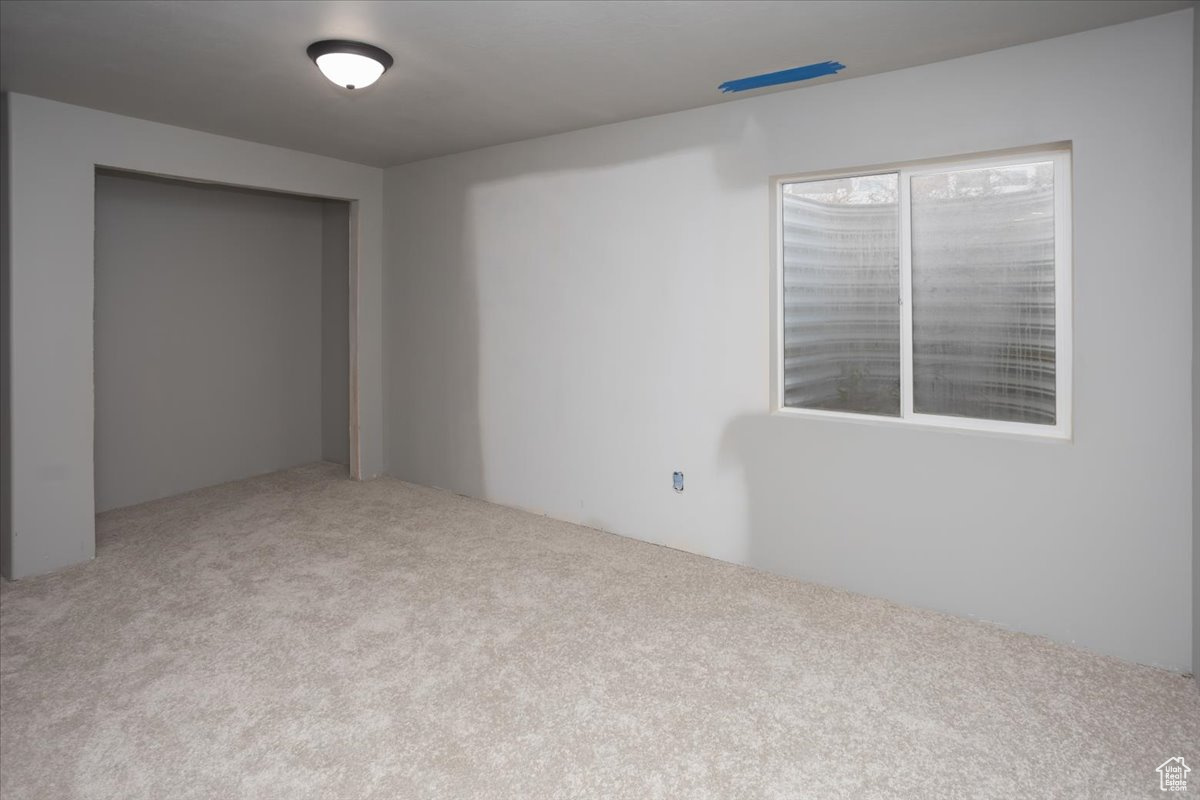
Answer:
POLYGON ((775 407, 1069 435, 1064 149, 775 181, 775 407))

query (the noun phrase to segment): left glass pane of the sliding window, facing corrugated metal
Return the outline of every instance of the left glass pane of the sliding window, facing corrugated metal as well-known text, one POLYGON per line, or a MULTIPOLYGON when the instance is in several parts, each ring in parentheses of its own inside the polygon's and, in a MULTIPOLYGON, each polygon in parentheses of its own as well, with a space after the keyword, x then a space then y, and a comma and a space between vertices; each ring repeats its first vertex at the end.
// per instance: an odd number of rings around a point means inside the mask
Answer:
POLYGON ((899 178, 784 186, 784 404, 900 415, 899 178))

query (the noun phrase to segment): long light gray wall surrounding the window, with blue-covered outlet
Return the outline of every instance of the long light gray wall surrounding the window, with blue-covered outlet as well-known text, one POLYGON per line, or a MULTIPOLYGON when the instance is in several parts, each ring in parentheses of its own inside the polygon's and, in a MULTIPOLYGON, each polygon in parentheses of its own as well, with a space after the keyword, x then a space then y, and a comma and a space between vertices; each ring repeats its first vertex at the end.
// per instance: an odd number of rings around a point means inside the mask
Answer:
POLYGON ((1192 43, 1186 10, 388 170, 390 470, 1188 669, 1192 43), (1072 441, 769 414, 770 175, 1063 140, 1072 441))

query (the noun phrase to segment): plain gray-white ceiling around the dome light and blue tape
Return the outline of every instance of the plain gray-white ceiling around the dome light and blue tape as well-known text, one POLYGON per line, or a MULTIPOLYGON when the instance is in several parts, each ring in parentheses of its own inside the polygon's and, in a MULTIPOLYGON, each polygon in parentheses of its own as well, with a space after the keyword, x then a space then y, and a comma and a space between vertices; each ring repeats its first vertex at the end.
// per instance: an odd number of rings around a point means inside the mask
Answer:
POLYGON ((0 88, 390 166, 754 94, 720 94, 732 78, 836 60, 799 86, 845 80, 1190 5, 5 0, 0 88), (348 92, 305 55, 320 38, 396 64, 348 92))

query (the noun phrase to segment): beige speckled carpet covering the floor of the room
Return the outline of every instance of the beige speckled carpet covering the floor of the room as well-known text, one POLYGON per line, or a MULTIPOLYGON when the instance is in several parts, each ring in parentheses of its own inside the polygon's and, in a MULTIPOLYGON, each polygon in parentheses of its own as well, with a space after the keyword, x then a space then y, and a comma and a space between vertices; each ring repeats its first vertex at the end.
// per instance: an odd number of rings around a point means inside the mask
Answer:
MULTIPOLYGON (((1158 798, 1138 667, 312 465, 100 517, 0 594, 0 793, 1158 798)), ((1190 794, 1190 793, 1189 793, 1190 794)))

